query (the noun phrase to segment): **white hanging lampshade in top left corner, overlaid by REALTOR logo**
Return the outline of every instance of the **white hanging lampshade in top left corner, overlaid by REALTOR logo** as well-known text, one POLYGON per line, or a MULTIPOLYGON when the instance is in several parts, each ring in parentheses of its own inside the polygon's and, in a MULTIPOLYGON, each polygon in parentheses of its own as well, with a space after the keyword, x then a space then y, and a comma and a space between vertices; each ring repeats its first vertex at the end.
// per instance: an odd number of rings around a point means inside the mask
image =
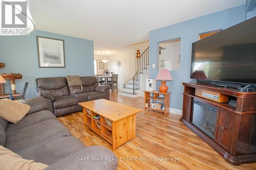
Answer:
POLYGON ((25 0, 1 1, 0 35, 25 35, 34 31, 34 21, 25 0))

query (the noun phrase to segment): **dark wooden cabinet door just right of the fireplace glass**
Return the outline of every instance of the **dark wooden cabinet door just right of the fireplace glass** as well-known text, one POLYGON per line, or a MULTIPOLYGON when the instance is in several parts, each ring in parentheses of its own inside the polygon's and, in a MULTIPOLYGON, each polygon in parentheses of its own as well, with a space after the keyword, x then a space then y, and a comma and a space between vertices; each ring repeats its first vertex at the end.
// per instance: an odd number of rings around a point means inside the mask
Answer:
POLYGON ((228 149, 229 144, 231 116, 229 111, 219 110, 216 141, 225 149, 228 149))

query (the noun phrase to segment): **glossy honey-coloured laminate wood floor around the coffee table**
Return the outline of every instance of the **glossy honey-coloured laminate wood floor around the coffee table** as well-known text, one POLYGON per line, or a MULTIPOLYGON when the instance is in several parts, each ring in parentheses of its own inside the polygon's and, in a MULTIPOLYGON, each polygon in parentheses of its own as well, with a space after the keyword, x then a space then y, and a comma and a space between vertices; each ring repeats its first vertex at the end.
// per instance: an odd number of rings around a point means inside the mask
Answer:
MULTIPOLYGON (((144 109, 144 98, 129 98, 111 93, 111 101, 144 109)), ((136 115, 136 139, 114 152, 118 169, 256 169, 256 163, 233 166, 211 149, 196 134, 179 122, 181 115, 163 116, 156 112, 136 115), (176 161, 175 161, 176 160, 176 161)), ((87 147, 111 144, 89 128, 83 129, 82 112, 58 117, 71 134, 87 147)))

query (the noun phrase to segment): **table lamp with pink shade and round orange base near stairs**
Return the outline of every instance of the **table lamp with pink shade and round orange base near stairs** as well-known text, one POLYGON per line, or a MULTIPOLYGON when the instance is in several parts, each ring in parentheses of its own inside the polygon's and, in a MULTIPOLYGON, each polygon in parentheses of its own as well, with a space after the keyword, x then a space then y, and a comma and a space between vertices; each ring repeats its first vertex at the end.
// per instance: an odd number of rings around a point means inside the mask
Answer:
POLYGON ((166 86, 166 81, 173 80, 172 75, 168 69, 160 69, 157 75, 156 80, 161 80, 162 83, 159 86, 159 91, 162 93, 166 93, 168 91, 168 86, 166 86))

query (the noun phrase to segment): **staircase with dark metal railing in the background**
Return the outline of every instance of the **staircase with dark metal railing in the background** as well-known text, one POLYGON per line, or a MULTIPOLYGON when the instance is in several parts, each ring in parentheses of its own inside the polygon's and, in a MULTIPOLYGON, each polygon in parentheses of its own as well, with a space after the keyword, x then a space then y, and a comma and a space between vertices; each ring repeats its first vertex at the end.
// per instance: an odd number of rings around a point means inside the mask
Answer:
POLYGON ((150 52, 150 47, 148 46, 146 50, 140 55, 136 56, 137 57, 137 70, 135 71, 134 76, 125 81, 122 87, 122 90, 119 91, 119 94, 125 95, 129 94, 136 96, 138 93, 137 91, 140 90, 140 77, 141 74, 145 72, 149 65, 149 52, 150 52))

